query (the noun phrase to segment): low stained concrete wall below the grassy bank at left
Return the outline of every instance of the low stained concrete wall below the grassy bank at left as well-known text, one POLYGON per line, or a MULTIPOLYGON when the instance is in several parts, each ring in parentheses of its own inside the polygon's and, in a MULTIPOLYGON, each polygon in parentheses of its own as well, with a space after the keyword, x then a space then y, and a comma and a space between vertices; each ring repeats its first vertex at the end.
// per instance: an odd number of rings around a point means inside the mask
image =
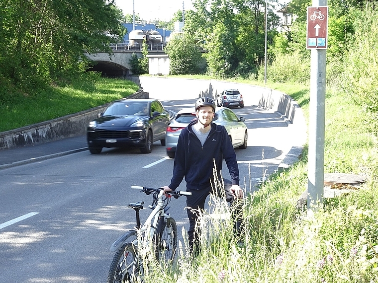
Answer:
MULTIPOLYGON (((140 89, 128 98, 148 98, 148 93, 140 89)), ((106 105, 54 120, 1 132, 0 150, 85 135, 89 122, 95 119, 106 105)))

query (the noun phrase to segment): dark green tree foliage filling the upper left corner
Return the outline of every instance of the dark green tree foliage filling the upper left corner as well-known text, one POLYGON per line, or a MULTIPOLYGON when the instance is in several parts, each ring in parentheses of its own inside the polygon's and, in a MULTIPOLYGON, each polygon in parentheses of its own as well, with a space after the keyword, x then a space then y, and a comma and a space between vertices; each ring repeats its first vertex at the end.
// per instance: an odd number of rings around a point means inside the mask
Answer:
POLYGON ((32 93, 73 76, 83 71, 78 62, 85 52, 110 52, 109 44, 123 37, 121 17, 105 0, 1 1, 0 77, 32 93))

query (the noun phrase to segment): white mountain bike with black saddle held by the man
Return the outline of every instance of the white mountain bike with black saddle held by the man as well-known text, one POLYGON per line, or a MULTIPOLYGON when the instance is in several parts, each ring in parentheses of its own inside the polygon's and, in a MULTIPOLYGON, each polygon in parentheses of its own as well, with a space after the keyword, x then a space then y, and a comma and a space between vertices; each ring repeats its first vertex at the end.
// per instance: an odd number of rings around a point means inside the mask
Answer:
MULTIPOLYGON (((138 233, 142 239, 147 237, 147 243, 152 244, 155 258, 164 263, 171 264, 177 250, 177 225, 174 218, 167 213, 171 196, 178 199, 180 196, 190 196, 185 191, 168 192, 163 195, 162 189, 131 186, 132 189, 141 190, 146 195, 153 194, 153 211, 147 217, 143 226, 140 225, 139 211, 143 209, 144 202, 130 203, 128 208, 135 210, 136 226, 119 237, 110 247, 116 252, 110 264, 107 283, 135 283, 138 277, 143 277, 143 260, 138 252, 138 233), (152 239, 152 242, 149 242, 152 239), (127 241, 128 240, 128 241, 127 241)), ((144 246, 143 246, 144 248, 144 246)))

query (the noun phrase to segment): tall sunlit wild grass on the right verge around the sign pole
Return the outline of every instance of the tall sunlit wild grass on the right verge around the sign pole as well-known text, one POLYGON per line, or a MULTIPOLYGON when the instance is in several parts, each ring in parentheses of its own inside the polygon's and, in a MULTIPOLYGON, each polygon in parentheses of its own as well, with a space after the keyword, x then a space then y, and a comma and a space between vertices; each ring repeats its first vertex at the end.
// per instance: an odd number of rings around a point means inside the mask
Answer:
MULTIPOLYGON (((308 89, 286 89, 308 113, 308 89)), ((298 211, 296 202, 307 188, 305 146, 298 162, 269 176, 244 199, 241 245, 229 217, 209 217, 231 213, 226 203, 211 197, 201 222, 206 232, 200 255, 191 258, 186 243, 181 243, 176 269, 150 270, 145 282, 378 282, 378 141, 364 127, 365 115, 344 94, 327 92, 325 172, 364 174, 366 184, 325 199, 317 212, 298 211)))

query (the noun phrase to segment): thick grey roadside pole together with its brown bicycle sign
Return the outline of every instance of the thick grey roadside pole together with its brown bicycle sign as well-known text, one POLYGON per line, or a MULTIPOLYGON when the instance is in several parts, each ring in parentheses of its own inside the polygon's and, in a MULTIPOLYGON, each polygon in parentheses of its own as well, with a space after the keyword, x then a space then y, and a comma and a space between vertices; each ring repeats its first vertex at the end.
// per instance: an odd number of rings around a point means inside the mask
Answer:
POLYGON ((312 7, 307 7, 306 43, 311 49, 307 212, 323 204, 327 29, 327 0, 312 0, 312 7))

